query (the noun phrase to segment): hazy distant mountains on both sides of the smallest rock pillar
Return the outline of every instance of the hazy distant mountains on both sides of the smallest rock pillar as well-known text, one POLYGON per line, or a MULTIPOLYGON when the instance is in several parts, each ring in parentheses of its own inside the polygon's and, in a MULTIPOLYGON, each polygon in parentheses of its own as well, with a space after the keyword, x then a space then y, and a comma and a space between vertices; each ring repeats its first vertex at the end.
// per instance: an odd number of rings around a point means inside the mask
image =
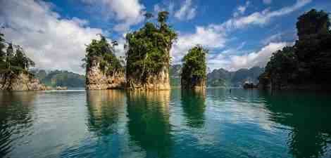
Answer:
MULTIPOLYGON (((170 66, 170 85, 180 86, 181 65, 170 66)), ((264 68, 252 67, 230 72, 222 68, 213 70, 207 74, 208 86, 242 86, 245 81, 258 83, 258 76, 264 72, 264 68)))

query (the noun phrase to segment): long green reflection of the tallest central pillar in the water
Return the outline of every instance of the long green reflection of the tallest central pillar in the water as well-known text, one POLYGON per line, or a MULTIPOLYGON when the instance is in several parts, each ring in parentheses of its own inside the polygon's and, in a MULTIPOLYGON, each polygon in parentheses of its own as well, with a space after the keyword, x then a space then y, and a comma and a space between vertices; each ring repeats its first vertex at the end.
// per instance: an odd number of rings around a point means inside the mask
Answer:
POLYGON ((147 157, 169 157, 169 101, 170 91, 127 93, 130 139, 146 150, 147 157))

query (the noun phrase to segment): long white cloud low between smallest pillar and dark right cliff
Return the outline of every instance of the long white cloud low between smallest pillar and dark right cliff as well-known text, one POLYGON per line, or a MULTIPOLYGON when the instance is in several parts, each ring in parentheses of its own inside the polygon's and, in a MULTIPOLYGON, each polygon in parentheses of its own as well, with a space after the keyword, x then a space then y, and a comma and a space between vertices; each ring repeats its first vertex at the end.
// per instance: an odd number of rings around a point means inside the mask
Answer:
POLYGON ((261 48, 260 51, 244 55, 226 55, 224 52, 208 58, 208 66, 212 69, 223 67, 226 70, 239 70, 240 68, 251 68, 254 66, 265 67, 271 55, 291 43, 270 43, 261 48))

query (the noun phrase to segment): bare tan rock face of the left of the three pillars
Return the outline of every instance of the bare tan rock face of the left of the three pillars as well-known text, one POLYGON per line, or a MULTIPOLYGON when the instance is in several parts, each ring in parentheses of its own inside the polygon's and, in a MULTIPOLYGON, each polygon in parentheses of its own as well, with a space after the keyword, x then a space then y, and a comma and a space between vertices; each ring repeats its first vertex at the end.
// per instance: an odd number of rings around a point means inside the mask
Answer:
POLYGON ((86 89, 87 90, 103 90, 125 87, 124 72, 115 72, 112 75, 107 75, 100 69, 100 63, 93 60, 90 67, 86 71, 86 89))

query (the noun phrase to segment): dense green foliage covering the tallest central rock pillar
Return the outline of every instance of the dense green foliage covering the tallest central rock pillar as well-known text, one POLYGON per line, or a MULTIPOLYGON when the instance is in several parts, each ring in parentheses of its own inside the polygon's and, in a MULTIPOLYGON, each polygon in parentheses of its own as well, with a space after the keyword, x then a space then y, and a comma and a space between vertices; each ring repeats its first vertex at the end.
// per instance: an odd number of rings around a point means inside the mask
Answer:
POLYGON ((167 19, 168 12, 160 12, 157 25, 146 22, 138 31, 126 35, 127 74, 144 82, 149 75, 169 67, 169 52, 177 34, 166 23, 167 19))

